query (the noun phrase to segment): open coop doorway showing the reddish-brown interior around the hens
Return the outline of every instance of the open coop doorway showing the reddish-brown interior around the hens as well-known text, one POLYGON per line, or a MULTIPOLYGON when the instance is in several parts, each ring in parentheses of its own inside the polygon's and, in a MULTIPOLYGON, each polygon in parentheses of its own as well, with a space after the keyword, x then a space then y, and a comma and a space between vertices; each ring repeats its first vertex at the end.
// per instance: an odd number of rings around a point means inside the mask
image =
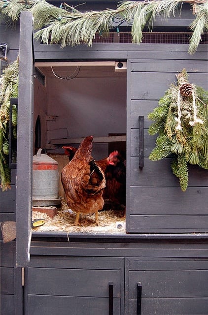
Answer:
MULTIPOLYGON (((34 96, 34 111, 42 121, 44 108, 46 124, 41 126, 41 137, 45 135, 43 149, 59 165, 58 196, 63 198, 58 207, 63 220, 61 229, 65 225, 69 229, 70 221, 71 230, 77 232, 80 227, 73 228, 74 216, 68 212, 70 209, 60 180, 62 169, 69 162, 63 146, 78 148, 83 138, 93 135, 92 156, 95 160, 107 158, 110 152, 117 150, 122 151, 126 161, 126 62, 38 62, 35 67, 45 76, 44 87, 35 81, 35 91, 41 95, 36 93, 34 96)), ((125 232, 124 208, 125 205, 121 209, 111 209, 108 202, 107 209, 99 211, 99 226, 93 224, 93 215, 83 216, 82 228, 86 232, 121 231, 118 228, 125 232)), ((46 224, 39 229, 46 229, 46 224)))

